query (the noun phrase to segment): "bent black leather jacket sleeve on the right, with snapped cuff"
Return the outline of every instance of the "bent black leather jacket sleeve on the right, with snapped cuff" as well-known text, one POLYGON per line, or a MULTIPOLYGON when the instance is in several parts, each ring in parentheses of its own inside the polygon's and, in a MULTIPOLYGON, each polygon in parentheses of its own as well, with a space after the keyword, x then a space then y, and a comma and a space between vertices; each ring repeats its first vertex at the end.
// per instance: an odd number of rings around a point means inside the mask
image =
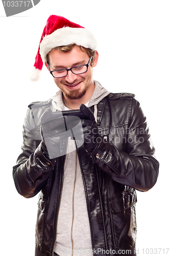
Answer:
POLYGON ((113 144, 101 141, 91 157, 113 180, 140 191, 152 188, 158 177, 159 163, 139 102, 133 99, 129 127, 125 132, 126 151, 120 152, 113 144))

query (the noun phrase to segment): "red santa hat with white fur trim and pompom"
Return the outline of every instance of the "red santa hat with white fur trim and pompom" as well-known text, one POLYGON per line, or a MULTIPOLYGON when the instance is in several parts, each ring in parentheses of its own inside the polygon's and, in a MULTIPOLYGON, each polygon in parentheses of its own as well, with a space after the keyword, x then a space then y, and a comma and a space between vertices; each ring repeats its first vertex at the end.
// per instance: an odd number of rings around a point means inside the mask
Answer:
POLYGON ((51 15, 44 27, 38 52, 35 58, 31 80, 37 81, 40 77, 46 55, 55 47, 76 44, 92 50, 96 49, 97 42, 93 34, 84 27, 70 22, 68 19, 51 15))

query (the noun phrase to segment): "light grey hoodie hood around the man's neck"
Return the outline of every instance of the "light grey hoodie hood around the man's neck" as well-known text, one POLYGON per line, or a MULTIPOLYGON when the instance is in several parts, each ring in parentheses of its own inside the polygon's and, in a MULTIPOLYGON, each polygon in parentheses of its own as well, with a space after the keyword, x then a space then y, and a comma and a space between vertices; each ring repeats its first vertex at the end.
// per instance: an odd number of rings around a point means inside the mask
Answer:
MULTIPOLYGON (((95 88, 94 92, 89 100, 88 108, 90 106, 98 104, 102 99, 104 99, 110 92, 104 88, 98 81, 94 81, 95 88)), ((52 104, 56 110, 63 111, 64 104, 62 99, 62 91, 59 90, 55 96, 52 97, 52 104)))

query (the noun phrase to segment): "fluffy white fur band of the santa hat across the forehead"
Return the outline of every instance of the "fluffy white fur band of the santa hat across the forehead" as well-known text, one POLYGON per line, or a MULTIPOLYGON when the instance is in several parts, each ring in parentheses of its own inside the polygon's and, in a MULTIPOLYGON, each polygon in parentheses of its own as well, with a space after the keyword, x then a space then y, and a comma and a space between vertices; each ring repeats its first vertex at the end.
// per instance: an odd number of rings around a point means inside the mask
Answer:
POLYGON ((76 44, 95 50, 96 39, 93 34, 84 28, 63 27, 50 35, 45 35, 40 44, 40 55, 45 62, 46 55, 55 47, 76 44))

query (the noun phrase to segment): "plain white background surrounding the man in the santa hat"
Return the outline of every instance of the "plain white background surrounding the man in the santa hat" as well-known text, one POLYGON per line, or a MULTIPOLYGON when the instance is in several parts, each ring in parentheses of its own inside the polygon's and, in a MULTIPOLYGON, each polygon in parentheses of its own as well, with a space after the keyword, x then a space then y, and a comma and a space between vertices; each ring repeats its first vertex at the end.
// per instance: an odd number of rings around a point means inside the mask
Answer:
POLYGON ((170 247, 169 13, 170 2, 165 0, 41 0, 26 12, 6 17, 0 3, 1 255, 34 255, 37 196, 25 199, 17 193, 12 166, 20 154, 28 104, 49 99, 58 90, 45 68, 39 82, 29 80, 40 37, 51 14, 91 30, 99 42, 100 54, 94 79, 111 92, 134 93, 141 103, 160 174, 150 191, 137 191, 137 255, 158 254, 156 250, 152 253, 154 248, 161 248, 159 255, 167 253, 163 248, 170 247))

